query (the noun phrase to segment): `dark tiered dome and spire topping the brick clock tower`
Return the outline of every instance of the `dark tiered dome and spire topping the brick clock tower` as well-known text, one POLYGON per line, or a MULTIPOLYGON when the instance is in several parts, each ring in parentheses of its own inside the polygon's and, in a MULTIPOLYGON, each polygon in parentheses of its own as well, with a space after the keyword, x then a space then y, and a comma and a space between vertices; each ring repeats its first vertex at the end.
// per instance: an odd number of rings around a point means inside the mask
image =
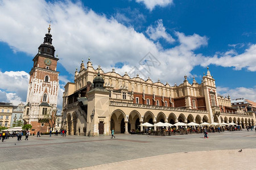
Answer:
POLYGON ((43 54, 44 56, 54 57, 55 48, 52 45, 52 35, 50 31, 51 31, 51 24, 49 24, 48 33, 46 33, 46 36, 44 37, 43 44, 41 44, 38 48, 38 53, 43 54))

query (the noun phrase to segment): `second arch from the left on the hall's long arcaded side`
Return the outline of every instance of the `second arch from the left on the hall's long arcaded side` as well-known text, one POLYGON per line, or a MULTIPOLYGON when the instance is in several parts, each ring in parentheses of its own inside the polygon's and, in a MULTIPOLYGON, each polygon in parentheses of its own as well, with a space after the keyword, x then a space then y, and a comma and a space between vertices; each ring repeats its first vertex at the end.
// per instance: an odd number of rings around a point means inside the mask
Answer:
POLYGON ((141 114, 138 111, 131 111, 128 118, 128 131, 130 132, 132 129, 140 129, 140 122, 142 121, 141 114))

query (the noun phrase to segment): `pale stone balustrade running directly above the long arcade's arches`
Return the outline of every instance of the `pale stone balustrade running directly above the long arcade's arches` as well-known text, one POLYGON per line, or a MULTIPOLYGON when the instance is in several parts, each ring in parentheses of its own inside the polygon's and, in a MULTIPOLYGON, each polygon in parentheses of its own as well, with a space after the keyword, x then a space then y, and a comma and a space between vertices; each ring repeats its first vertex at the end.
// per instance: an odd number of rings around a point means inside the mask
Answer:
POLYGON ((116 101, 110 101, 110 105, 117 106, 117 107, 144 108, 144 109, 156 109, 156 110, 165 110, 165 111, 178 111, 178 112, 192 112, 192 113, 208 114, 207 111, 201 111, 201 110, 171 108, 171 107, 162 107, 162 106, 146 105, 146 104, 122 103, 122 102, 116 102, 116 101))

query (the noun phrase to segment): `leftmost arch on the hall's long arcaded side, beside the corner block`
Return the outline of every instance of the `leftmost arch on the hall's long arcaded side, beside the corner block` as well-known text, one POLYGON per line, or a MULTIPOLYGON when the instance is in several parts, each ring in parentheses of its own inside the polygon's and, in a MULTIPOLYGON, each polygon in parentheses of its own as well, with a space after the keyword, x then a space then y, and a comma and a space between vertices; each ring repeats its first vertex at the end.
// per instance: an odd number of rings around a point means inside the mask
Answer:
POLYGON ((116 133, 125 133, 125 122, 127 122, 125 113, 121 109, 116 109, 111 114, 110 129, 114 128, 116 133))

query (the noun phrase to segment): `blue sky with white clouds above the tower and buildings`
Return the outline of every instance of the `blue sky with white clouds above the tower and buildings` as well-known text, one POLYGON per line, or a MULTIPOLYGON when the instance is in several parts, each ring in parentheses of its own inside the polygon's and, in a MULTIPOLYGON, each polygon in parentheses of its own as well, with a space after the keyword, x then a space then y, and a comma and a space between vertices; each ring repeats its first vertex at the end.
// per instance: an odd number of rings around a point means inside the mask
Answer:
POLYGON ((4 1, 0 0, 0 101, 26 103, 32 58, 51 34, 60 71, 58 107, 75 68, 90 56, 94 68, 144 79, 201 82, 207 66, 217 91, 256 101, 255 1, 4 1), (159 62, 143 72, 150 52, 159 62), (130 75, 132 76, 132 75, 130 75))

